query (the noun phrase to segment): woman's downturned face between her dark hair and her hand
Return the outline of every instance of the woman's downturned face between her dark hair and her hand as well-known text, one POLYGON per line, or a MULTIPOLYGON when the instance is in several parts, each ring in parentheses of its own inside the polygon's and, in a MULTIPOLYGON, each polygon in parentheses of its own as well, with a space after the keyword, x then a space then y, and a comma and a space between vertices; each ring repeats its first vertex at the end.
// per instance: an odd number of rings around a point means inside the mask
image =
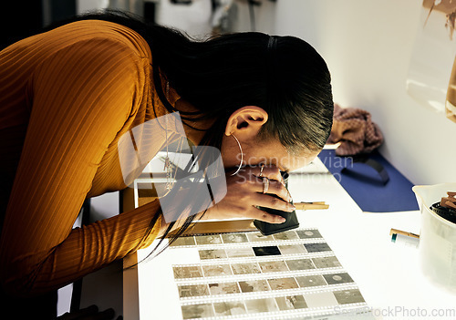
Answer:
MULTIPOLYGON (((306 166, 316 158, 318 152, 305 152, 301 156, 290 155, 278 139, 239 140, 244 153, 244 165, 257 166, 260 163, 275 165, 279 170, 292 171, 306 166)), ((223 136, 222 159, 225 168, 234 168, 241 162, 241 150, 233 136, 223 136)))

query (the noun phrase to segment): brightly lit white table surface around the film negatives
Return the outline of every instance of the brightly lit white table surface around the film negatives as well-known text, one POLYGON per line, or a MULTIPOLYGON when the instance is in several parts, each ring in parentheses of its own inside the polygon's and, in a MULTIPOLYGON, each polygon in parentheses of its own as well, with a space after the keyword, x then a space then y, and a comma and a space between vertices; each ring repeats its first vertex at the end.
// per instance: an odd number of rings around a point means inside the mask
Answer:
MULTIPOLYGON (((421 274, 419 250, 390 242, 391 228, 420 233, 420 212, 362 212, 321 162, 316 160, 305 171, 290 175, 289 190, 294 201, 326 201, 329 209, 296 212, 300 226, 319 229, 358 284, 368 305, 374 308, 376 318, 456 319, 456 295, 434 286, 421 274), (433 315, 434 312, 440 312, 441 316, 433 315)), ((177 253, 175 250, 166 251, 150 262, 140 263, 141 319, 181 317, 170 268, 171 258, 175 259, 171 254, 177 253), (170 296, 176 298, 170 299, 170 296)), ((138 254, 141 258, 147 250, 138 254)), ((181 259, 192 263, 197 262, 198 257, 181 259)), ((124 277, 125 320, 136 317, 135 294, 125 294, 126 286, 130 288, 127 290, 133 288, 134 291, 136 285, 124 277)))

